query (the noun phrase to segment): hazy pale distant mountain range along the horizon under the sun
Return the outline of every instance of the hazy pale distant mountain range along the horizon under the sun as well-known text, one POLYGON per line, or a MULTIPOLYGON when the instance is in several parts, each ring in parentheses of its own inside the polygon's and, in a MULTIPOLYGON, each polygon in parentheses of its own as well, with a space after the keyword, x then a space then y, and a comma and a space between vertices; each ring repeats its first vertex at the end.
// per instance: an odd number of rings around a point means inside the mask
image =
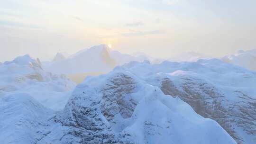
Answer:
MULTIPOLYGON (((182 53, 176 57, 166 60, 173 62, 196 62, 200 59, 210 59, 212 57, 199 53, 182 53)), ((231 63, 256 71, 256 50, 239 51, 219 58, 226 63, 231 63)), ((58 74, 83 75, 84 73, 106 73, 114 67, 129 63, 130 61, 150 63, 161 63, 165 59, 158 59, 144 53, 122 54, 114 51, 108 45, 96 45, 88 49, 83 49, 76 54, 57 53, 52 62, 43 62, 42 67, 48 71, 58 74)))

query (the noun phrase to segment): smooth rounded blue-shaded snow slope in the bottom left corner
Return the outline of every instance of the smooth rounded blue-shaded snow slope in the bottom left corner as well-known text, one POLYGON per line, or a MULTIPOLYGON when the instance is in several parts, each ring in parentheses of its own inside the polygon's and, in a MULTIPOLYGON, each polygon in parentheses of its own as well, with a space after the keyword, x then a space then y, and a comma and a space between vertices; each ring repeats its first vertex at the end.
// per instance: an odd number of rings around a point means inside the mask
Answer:
POLYGON ((15 93, 0 97, 0 143, 34 144, 52 110, 43 107, 26 93, 15 93))

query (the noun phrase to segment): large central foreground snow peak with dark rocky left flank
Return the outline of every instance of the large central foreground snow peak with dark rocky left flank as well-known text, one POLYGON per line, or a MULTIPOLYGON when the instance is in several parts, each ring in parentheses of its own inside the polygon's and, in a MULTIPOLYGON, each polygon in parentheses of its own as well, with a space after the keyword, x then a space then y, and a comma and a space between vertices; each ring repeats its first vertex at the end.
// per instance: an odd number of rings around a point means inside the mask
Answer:
POLYGON ((127 71, 92 76, 36 144, 236 144, 215 121, 127 71))

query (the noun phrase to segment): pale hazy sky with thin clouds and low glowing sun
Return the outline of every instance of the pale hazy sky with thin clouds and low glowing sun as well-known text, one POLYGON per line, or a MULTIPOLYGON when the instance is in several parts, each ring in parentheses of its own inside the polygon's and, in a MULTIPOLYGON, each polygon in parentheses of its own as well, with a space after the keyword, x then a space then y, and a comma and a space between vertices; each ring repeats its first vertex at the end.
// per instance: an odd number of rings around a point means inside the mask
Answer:
POLYGON ((0 0, 0 61, 111 44, 159 58, 256 48, 256 0, 0 0))

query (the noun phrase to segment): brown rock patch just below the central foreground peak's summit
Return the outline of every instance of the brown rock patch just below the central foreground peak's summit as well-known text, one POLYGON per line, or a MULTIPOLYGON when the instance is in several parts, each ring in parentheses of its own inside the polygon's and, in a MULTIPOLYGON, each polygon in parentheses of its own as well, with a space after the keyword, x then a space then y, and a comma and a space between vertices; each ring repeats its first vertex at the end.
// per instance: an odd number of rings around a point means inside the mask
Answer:
POLYGON ((101 89, 104 101, 101 103, 101 113, 108 121, 112 120, 118 113, 123 118, 132 116, 137 102, 129 94, 135 89, 135 86, 135 80, 128 75, 120 73, 110 79, 109 83, 101 89))

